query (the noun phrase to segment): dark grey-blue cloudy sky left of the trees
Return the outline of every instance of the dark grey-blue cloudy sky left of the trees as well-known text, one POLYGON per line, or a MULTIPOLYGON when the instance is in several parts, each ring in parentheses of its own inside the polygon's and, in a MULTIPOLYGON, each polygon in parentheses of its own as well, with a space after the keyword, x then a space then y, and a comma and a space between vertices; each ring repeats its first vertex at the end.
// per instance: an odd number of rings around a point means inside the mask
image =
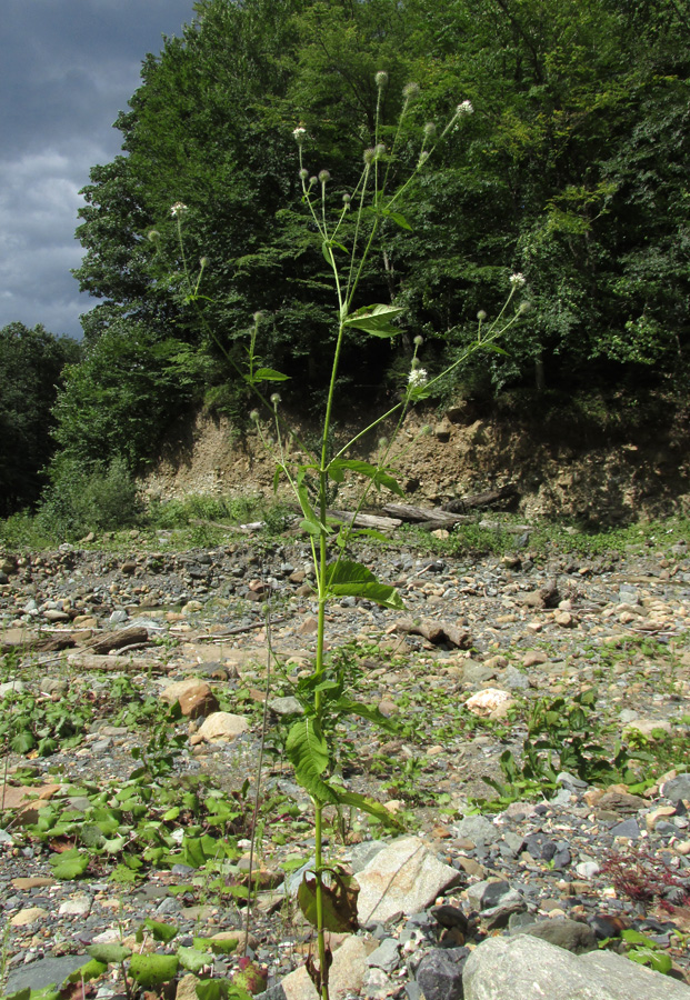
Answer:
POLYGON ((120 150, 112 128, 193 0, 1 0, 0 327, 80 337, 96 300, 70 274, 80 188, 120 150))

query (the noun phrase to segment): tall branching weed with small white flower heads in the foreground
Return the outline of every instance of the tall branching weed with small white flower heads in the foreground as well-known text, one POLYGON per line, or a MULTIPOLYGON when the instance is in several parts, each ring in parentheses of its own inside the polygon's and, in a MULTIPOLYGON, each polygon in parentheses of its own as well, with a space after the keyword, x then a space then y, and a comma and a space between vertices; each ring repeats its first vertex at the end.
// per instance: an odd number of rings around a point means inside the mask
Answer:
MULTIPOLYGON (((524 284, 521 274, 512 274, 509 279, 509 293, 499 316, 493 321, 489 321, 486 313, 480 311, 477 337, 473 342, 444 371, 433 377, 430 377, 421 366, 419 353, 422 338, 416 337, 407 381, 402 387, 399 401, 336 450, 336 446, 332 443, 333 408, 339 366, 346 342, 349 338, 361 337, 362 333, 369 337, 390 339, 402 332, 399 320, 403 314, 403 309, 399 306, 393 303, 359 304, 360 280, 366 269, 371 267, 374 253, 380 249, 384 227, 394 224, 403 230, 411 228, 402 208, 406 198, 411 193, 412 180, 422 170, 428 169, 427 164, 436 147, 446 139, 451 130, 460 128, 462 120, 473 111, 469 101, 458 104, 438 138, 432 123, 424 126, 416 164, 412 166, 408 179, 399 182, 392 193, 389 193, 389 188, 393 186, 393 178, 398 176, 399 153, 403 148, 409 150, 409 132, 406 130, 406 141, 403 142, 402 126, 413 112, 414 98, 419 88, 414 83, 404 88, 402 110, 392 133, 390 148, 387 148, 380 141, 380 110, 387 83, 387 73, 378 72, 376 74, 377 109, 373 144, 363 152, 363 164, 354 189, 351 193, 338 199, 337 204, 334 203, 336 198, 329 194, 329 186, 331 186, 329 171, 322 169, 318 174, 310 174, 306 166, 310 146, 307 128, 300 124, 293 131, 299 150, 299 176, 302 186, 302 203, 306 209, 306 224, 320 242, 334 293, 336 337, 320 443, 316 449, 309 449, 304 442, 299 442, 300 457, 307 454, 307 461, 293 461, 290 458, 288 448, 290 429, 280 412, 280 396, 276 392, 268 394, 273 383, 284 382, 288 377, 261 363, 258 351, 263 320, 261 313, 256 313, 253 317, 244 369, 238 366, 236 359, 219 343, 237 374, 251 388, 257 400, 270 414, 272 423, 272 437, 270 438, 266 424, 260 419, 259 411, 252 411, 251 417, 256 421, 258 432, 266 447, 276 457, 274 487, 278 487, 281 479, 287 480, 299 503, 302 512, 301 527, 309 538, 314 566, 318 604, 316 664, 311 677, 302 681, 296 690, 304 713, 292 723, 289 730, 286 752, 294 767, 298 781, 311 797, 314 808, 314 870, 304 876, 304 891, 301 896, 307 903, 307 917, 317 928, 318 968, 311 961, 309 971, 323 1000, 328 1000, 329 996, 328 969, 332 961, 324 929, 327 927, 333 929, 338 926, 340 904, 338 902, 339 892, 336 890, 341 884, 340 877, 333 878, 333 869, 328 867, 323 858, 323 810, 329 806, 356 807, 372 814, 379 821, 393 822, 387 810, 378 802, 346 791, 330 779, 331 747, 336 738, 334 720, 344 716, 358 714, 383 726, 389 726, 390 722, 372 708, 347 696, 337 660, 329 660, 324 656, 327 607, 330 601, 341 600, 343 597, 354 597, 373 601, 386 608, 403 608, 402 600, 393 587, 380 582, 367 567, 350 558, 349 544, 360 534, 356 527, 357 514, 367 503, 372 490, 379 492, 381 489, 386 489, 403 496, 394 476, 396 454, 393 449, 397 432, 410 408, 438 393, 448 376, 476 351, 480 349, 501 351, 502 349, 496 341, 527 311, 524 304, 518 308, 510 307, 516 293, 524 284), (354 446, 384 422, 393 423, 394 430, 389 434, 388 442, 382 442, 379 448, 378 461, 368 462, 353 458, 354 446), (347 476, 359 477, 363 486, 356 504, 354 516, 349 517, 346 521, 338 520, 329 513, 329 501, 347 476)), ((199 271, 196 274, 191 273, 184 254, 183 241, 183 220, 187 206, 177 202, 172 206, 171 212, 178 229, 182 266, 188 281, 188 294, 184 300, 198 309, 203 322, 203 308, 207 299, 200 292, 200 287, 208 262, 202 258, 199 271)), ((153 239, 156 240, 156 236, 153 239)), ((211 332, 210 328, 209 332, 211 332)), ((342 893, 343 897, 344 894, 342 893)), ((343 911, 342 929, 351 929, 350 901, 348 900, 347 906, 343 903, 341 909, 343 911)))

